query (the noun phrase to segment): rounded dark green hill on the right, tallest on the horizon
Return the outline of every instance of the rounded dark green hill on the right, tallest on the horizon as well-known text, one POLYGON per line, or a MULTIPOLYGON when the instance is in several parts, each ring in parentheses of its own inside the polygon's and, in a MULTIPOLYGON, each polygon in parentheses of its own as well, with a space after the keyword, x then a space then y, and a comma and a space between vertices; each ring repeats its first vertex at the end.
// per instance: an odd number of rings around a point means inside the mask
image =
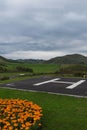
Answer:
POLYGON ((58 63, 58 64, 87 64, 87 57, 80 54, 65 55, 62 57, 52 58, 46 63, 58 63))

